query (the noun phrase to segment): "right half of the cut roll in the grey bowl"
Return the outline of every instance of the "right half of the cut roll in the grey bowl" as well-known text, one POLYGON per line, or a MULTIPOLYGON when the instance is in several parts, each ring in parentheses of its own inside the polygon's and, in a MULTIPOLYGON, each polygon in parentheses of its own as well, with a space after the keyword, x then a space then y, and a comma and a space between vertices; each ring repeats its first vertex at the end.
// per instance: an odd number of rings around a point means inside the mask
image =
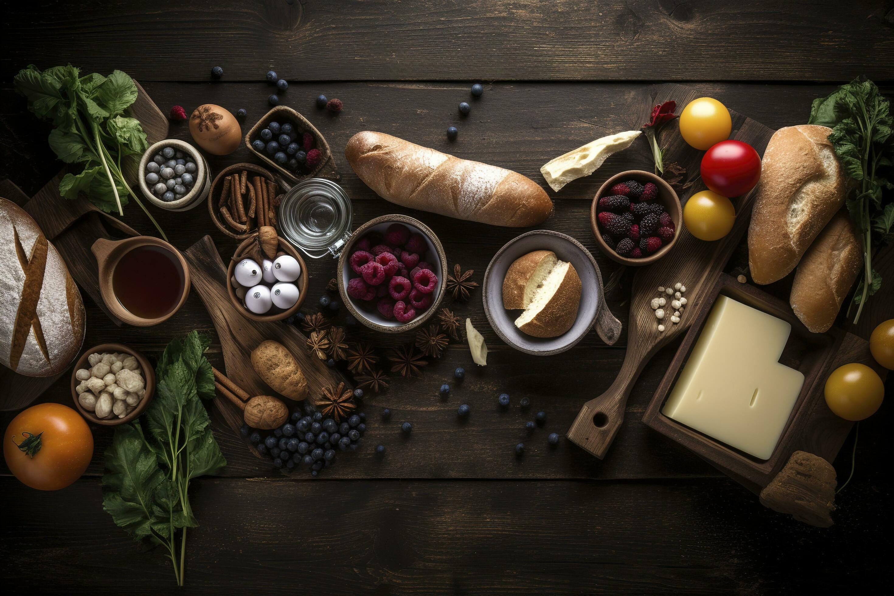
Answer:
POLYGON ((567 332, 578 318, 580 278, 570 263, 557 261, 525 305, 515 326, 528 335, 552 338, 567 332))

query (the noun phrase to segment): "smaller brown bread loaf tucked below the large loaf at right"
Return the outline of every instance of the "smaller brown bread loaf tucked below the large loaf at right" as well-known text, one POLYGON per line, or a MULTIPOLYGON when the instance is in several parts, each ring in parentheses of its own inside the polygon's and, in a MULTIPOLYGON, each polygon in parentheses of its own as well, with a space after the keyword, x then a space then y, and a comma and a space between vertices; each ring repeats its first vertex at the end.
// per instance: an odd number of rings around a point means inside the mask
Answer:
POLYGON ((836 214, 797 265, 789 304, 814 333, 829 331, 863 268, 863 247, 846 209, 836 214))

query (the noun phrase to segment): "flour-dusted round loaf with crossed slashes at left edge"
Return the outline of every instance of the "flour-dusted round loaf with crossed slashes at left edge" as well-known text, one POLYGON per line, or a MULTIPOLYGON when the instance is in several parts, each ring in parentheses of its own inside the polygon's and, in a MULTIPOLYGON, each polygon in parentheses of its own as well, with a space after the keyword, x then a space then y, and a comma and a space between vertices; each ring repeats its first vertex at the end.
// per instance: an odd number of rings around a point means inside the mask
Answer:
POLYGON ((0 364, 63 372, 84 341, 84 304, 62 256, 20 206, 0 198, 0 364))

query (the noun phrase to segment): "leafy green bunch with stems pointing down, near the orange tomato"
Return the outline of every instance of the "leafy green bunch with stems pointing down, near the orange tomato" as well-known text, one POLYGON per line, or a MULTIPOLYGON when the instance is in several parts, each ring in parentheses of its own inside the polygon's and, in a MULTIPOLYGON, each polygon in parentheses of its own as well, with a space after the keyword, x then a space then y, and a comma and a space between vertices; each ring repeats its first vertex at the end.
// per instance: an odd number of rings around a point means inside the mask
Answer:
POLYGON ((214 374, 203 356, 208 343, 207 337, 190 332, 168 344, 156 366, 156 397, 145 423, 118 426, 105 450, 103 508, 134 540, 164 546, 179 585, 186 529, 198 525, 190 507, 190 480, 226 466, 202 403, 215 396, 214 374))

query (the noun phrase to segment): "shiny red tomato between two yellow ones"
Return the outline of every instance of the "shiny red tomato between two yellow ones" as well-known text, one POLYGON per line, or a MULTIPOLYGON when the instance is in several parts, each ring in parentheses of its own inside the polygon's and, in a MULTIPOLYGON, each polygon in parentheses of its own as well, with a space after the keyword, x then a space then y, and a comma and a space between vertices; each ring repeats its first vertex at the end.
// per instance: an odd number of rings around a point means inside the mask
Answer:
POLYGON ((760 179, 761 157, 742 141, 721 141, 702 157, 702 180, 718 195, 739 197, 754 189, 760 179))

